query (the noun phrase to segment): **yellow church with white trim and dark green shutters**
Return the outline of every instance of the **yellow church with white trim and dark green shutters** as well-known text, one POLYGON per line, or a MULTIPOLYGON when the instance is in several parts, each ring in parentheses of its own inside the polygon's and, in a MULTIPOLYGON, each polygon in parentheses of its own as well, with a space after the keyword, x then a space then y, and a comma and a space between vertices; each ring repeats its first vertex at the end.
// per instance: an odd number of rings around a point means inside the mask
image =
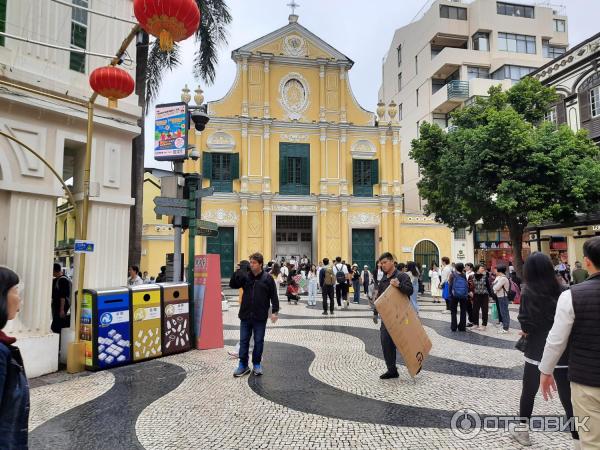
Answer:
POLYGON ((396 106, 377 123, 358 104, 352 60, 293 14, 232 58, 233 86, 208 103, 206 129, 190 131, 201 160, 184 166, 215 188, 202 218, 219 235, 197 239, 197 253, 220 254, 223 277, 256 251, 266 261, 341 256, 371 268, 384 251, 426 265, 449 254, 445 226, 404 213, 396 106))

